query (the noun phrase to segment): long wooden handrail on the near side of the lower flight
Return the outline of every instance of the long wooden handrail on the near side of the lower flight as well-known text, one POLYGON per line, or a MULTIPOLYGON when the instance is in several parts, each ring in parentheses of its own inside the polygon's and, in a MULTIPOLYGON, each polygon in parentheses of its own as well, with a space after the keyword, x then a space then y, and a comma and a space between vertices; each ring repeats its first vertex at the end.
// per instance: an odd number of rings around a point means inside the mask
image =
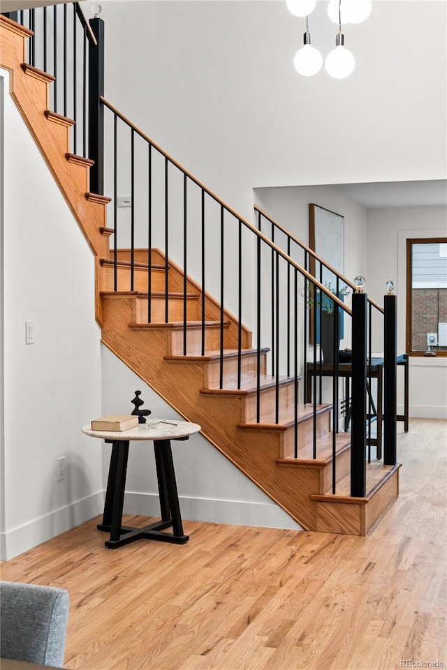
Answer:
POLYGON ((279 246, 277 246, 276 244, 274 244, 274 242, 272 242, 271 239, 269 239, 265 234, 263 234, 263 232, 261 232, 260 230, 258 230, 257 228, 255 228, 254 225, 252 225, 251 223, 249 223, 249 221, 247 221, 243 216, 241 216, 240 214, 238 214, 238 212, 235 211, 235 209, 233 209, 233 207, 230 207, 229 204, 226 204, 226 202, 224 202, 221 198, 219 198, 219 195, 216 195, 216 193, 213 193, 213 191, 211 191, 210 188, 207 188, 207 186, 205 186, 205 184, 203 184, 203 182, 200 181, 200 179, 197 179, 197 177, 194 177, 194 175, 191 174, 191 172, 189 172, 189 170, 186 170, 186 168, 184 168, 183 165, 182 165, 181 163, 179 163, 178 161, 176 161, 175 158, 173 158, 173 156, 170 156, 170 154, 168 154, 166 151, 164 151, 164 149, 162 149, 162 148, 159 146, 159 144, 156 144, 156 142, 154 142, 154 140, 152 140, 151 137, 149 137, 149 135, 146 135, 146 133, 144 133, 144 132, 141 130, 141 128, 138 128, 138 126, 135 126, 135 124, 133 124, 132 121, 130 121, 129 119, 127 119, 127 118, 124 116, 124 114, 122 114, 121 112, 119 112, 119 110, 117 110, 117 108, 114 107, 114 105, 112 105, 112 103, 109 103, 109 101, 106 100, 106 98, 104 98, 103 96, 101 96, 100 99, 101 99, 101 102, 103 103, 103 105, 105 105, 105 107, 108 107, 108 109, 109 109, 111 112, 113 112, 114 114, 116 114, 117 117, 119 117, 119 119, 121 119, 122 121, 124 121, 124 123, 125 123, 127 126, 129 126, 129 128, 131 128, 133 131, 135 131, 135 133, 137 133, 138 135, 140 135, 140 137, 142 138, 142 140, 146 140, 146 142, 149 142, 149 144, 150 144, 152 147, 154 147, 154 149, 156 149, 156 151, 159 151, 159 153, 160 153, 162 156, 164 156, 165 158, 167 158, 168 161, 170 161, 170 163, 172 163, 173 165, 175 165, 176 168, 178 168, 181 172, 183 172, 184 174, 186 174, 186 177, 189 177, 189 179, 191 179, 191 181, 193 181, 194 184, 197 184, 197 186, 199 186, 199 188, 201 188, 203 191, 205 191, 205 193, 207 193, 208 195, 210 195, 210 197, 213 198, 214 200, 216 200, 216 202, 218 202, 219 204, 221 204, 221 206, 222 206, 224 209, 226 209, 226 211, 228 211, 229 214, 232 214, 235 218, 237 218, 237 221, 240 221, 240 222, 243 223, 247 228, 249 228, 249 230, 251 230, 252 232, 254 232, 254 234, 255 234, 257 237, 261 238, 261 239, 265 242, 265 244, 267 244, 268 246, 270 246, 270 248, 272 248, 273 251, 276 251, 282 258, 284 258, 284 260, 286 260, 286 262, 288 262, 289 265, 292 265, 293 267, 295 267, 295 269, 297 269, 303 276, 305 276, 309 281, 311 281, 311 282, 312 282, 312 283, 313 283, 319 290, 321 290, 323 293, 325 293, 325 295, 327 295, 328 298, 329 298, 330 300, 333 300, 335 303, 337 303, 337 305, 338 305, 339 307, 342 308, 342 310, 344 310, 347 314, 349 314, 349 315, 352 316, 351 308, 349 308, 348 306, 346 306, 346 305, 344 304, 344 302, 342 302, 342 300, 340 300, 340 299, 339 299, 336 295, 334 295, 334 294, 333 294, 327 287, 325 287, 324 284, 321 284, 321 283, 318 281, 318 279, 316 279, 312 274, 310 274, 307 270, 305 270, 304 267, 301 267, 301 266, 300 266, 298 263, 296 263, 292 258, 290 258, 290 256, 288 256, 288 255, 286 254, 285 251, 283 251, 279 246))

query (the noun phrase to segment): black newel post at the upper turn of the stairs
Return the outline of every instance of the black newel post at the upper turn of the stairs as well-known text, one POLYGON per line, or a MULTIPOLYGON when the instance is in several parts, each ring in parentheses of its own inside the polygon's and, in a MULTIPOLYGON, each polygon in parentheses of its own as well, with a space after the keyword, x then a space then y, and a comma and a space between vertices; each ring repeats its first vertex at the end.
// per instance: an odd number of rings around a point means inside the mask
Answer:
POLYGON ((104 193, 104 107, 99 99, 104 95, 104 22, 95 17, 89 20, 97 44, 89 43, 89 158, 95 161, 90 168, 91 193, 104 193))

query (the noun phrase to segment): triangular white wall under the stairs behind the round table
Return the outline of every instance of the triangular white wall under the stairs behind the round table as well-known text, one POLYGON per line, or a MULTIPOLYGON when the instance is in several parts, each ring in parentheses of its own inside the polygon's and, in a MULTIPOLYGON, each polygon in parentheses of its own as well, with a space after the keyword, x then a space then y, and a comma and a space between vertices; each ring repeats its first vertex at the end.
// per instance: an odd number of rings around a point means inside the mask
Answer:
MULTIPOLYGON (((131 412, 135 391, 141 391, 144 408, 152 417, 182 419, 167 403, 107 348, 102 348, 103 414, 131 412)), ((269 528, 298 526, 281 507, 237 470, 200 434, 187 442, 171 442, 183 519, 214 523, 240 523, 269 528)), ((105 445, 103 483, 107 483, 110 446, 105 445)), ((124 512, 159 516, 152 445, 131 443, 126 477, 124 512)))

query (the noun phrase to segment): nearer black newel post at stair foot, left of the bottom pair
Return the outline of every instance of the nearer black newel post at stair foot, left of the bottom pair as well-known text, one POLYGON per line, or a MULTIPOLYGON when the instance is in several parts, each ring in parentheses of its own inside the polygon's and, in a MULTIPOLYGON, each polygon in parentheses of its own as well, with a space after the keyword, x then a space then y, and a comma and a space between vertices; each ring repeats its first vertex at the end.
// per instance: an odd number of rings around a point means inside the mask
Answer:
POLYGON ((352 296, 351 496, 366 494, 367 295, 352 296))

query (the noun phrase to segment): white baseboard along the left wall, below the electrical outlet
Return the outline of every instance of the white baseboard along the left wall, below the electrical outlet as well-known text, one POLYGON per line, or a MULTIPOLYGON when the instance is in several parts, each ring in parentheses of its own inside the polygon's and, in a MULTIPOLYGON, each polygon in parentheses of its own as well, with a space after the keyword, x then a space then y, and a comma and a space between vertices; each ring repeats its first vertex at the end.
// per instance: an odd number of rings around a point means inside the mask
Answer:
POLYGON ((54 509, 53 512, 23 526, 0 533, 0 559, 9 560, 42 542, 47 542, 48 539, 101 514, 103 508, 104 491, 98 491, 87 498, 71 502, 70 505, 54 509))

